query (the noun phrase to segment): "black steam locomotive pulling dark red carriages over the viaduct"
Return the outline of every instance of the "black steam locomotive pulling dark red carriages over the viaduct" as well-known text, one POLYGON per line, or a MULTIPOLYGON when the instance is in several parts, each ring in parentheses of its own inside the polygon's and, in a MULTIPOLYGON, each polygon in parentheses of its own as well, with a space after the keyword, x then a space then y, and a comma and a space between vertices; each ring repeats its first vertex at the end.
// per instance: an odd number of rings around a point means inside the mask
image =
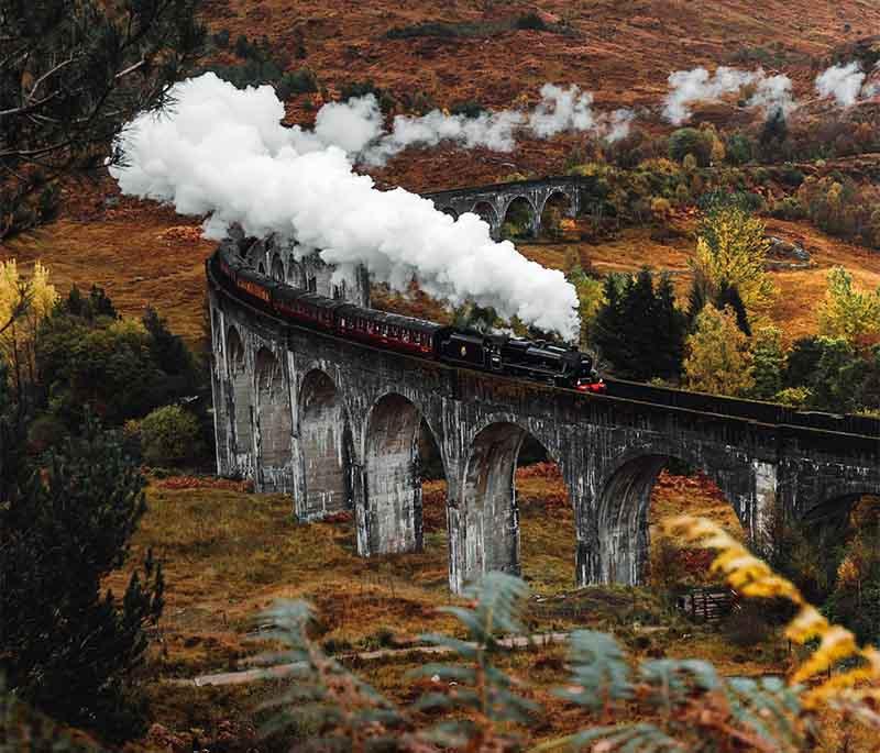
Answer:
POLYGON ((590 356, 544 340, 525 340, 444 326, 386 313, 290 287, 258 273, 222 244, 208 259, 209 274, 250 302, 282 319, 374 347, 454 366, 604 392, 590 356))

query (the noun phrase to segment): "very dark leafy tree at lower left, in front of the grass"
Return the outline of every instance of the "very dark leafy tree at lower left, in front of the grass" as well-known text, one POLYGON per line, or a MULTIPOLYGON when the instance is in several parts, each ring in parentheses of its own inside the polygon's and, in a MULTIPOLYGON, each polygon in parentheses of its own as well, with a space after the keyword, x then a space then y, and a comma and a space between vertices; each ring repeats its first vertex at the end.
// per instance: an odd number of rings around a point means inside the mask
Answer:
POLYGON ((89 422, 0 506, 0 672, 40 710, 116 740, 141 731, 131 673, 163 606, 150 554, 121 600, 102 586, 128 560, 143 487, 117 441, 89 422))

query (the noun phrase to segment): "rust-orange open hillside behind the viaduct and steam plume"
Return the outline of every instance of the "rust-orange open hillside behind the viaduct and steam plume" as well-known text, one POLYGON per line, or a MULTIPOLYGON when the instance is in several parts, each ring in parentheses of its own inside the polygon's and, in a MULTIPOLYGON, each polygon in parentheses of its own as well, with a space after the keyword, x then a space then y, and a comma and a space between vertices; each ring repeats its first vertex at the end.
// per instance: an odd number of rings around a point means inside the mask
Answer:
MULTIPOLYGON (((806 98, 817 70, 837 52, 880 27, 880 7, 865 0, 549 0, 539 4, 484 0, 452 2, 441 10, 430 3, 413 5, 210 0, 205 18, 213 33, 228 30, 232 38, 266 34, 288 69, 308 66, 331 98, 345 85, 372 80, 395 98, 389 115, 403 111, 400 102, 418 92, 438 107, 465 100, 490 108, 529 107, 538 100, 540 86, 554 81, 593 91, 597 111, 635 108, 639 128, 659 133, 671 130, 659 114, 671 70, 700 64, 751 68, 761 60, 769 71, 790 75, 795 93, 806 98), (528 12, 537 12, 550 31, 510 27, 512 20, 528 12), (446 24, 442 35, 387 37, 392 30, 411 31, 436 21, 446 24)), ((288 120, 309 123, 321 101, 320 93, 293 97, 288 120)), ((697 108, 695 121, 701 117, 725 123, 759 118, 729 103, 697 108)), ((493 181, 514 173, 556 174, 584 140, 561 134, 539 141, 524 135, 512 153, 444 145, 410 148, 373 174, 382 186, 415 190, 493 181)), ((855 167, 842 163, 842 169, 855 167)), ((201 262, 211 250, 210 243, 198 239, 197 224, 152 202, 120 197, 107 178, 97 186, 68 186, 59 221, 0 244, 0 256, 42 258, 63 289, 70 283, 97 283, 127 313, 136 314, 152 303, 173 328, 195 341, 202 329, 201 262)), ((813 304, 829 266, 845 264, 859 283, 877 284, 880 262, 870 252, 804 222, 774 221, 771 230, 802 243, 817 265, 774 275, 783 294, 774 318, 788 332, 812 329, 813 304)), ((688 237, 658 244, 635 229, 585 253, 600 273, 641 264, 684 273, 692 247, 688 237)), ((526 246, 524 253, 560 266, 564 247, 526 246)), ((680 287, 686 285, 686 275, 676 279, 680 287)), ((406 302, 389 303, 421 312, 406 302)))

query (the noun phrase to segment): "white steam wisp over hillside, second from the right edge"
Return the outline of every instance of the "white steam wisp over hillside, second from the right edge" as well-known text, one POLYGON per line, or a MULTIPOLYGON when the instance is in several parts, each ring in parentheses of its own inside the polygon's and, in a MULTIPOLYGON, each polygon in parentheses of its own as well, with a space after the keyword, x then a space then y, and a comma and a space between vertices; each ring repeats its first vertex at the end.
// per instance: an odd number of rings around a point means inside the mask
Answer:
POLYGON ((740 70, 721 66, 713 76, 705 68, 676 70, 669 76, 670 91, 667 95, 663 117, 674 125, 681 125, 693 114, 693 102, 717 101, 748 85, 755 85, 755 95, 746 103, 749 108, 761 108, 767 114, 781 110, 789 113, 796 104, 788 76, 768 77, 761 68, 740 70))

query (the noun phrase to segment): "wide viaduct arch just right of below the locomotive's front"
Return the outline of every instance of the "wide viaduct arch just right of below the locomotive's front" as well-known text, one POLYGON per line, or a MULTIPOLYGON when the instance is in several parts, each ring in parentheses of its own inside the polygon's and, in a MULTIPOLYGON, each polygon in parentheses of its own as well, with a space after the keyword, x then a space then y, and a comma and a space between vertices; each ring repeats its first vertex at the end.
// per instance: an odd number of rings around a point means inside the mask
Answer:
POLYGON ((684 462, 711 478, 730 503, 744 530, 755 532, 755 473, 748 463, 706 462, 700 452, 660 443, 636 446, 607 463, 596 486, 593 555, 582 563, 585 583, 642 583, 648 564, 648 513, 657 477, 670 461, 684 462))

